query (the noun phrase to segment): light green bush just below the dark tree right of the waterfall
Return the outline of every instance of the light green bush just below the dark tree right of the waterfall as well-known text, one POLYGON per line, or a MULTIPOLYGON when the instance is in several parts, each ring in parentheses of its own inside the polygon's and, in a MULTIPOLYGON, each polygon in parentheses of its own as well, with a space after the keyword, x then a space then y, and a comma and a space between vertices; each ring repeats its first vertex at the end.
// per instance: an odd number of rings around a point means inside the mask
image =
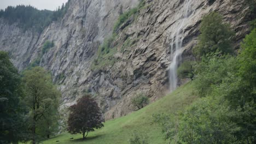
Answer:
POLYGON ((216 56, 214 54, 202 57, 197 67, 195 79, 196 89, 201 97, 212 92, 213 86, 218 86, 224 77, 232 76, 237 71, 237 59, 230 55, 216 56))

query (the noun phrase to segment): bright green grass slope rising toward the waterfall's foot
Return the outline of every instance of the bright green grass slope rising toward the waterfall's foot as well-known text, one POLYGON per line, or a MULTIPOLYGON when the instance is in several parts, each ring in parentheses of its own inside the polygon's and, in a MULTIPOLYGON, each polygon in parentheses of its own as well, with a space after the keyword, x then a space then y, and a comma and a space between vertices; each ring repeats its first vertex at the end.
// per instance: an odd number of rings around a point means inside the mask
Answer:
POLYGON ((196 99, 193 89, 193 83, 190 82, 139 111, 107 121, 102 129, 89 133, 88 138, 84 141, 82 135, 63 133, 42 143, 129 143, 134 130, 146 134, 150 143, 166 143, 161 128, 158 124, 153 123, 152 115, 154 113, 174 113, 183 110, 196 99), (74 139, 71 140, 71 137, 74 139))

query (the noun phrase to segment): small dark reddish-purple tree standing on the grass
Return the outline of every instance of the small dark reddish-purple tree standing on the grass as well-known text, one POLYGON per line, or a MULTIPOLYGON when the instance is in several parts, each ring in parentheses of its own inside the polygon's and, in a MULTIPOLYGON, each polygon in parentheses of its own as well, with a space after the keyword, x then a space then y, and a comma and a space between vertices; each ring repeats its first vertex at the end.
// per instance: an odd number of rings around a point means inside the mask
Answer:
POLYGON ((77 101, 77 104, 69 107, 68 132, 71 134, 83 134, 83 140, 89 131, 104 127, 103 116, 96 101, 87 94, 77 101), (87 133, 85 135, 85 133, 87 133))

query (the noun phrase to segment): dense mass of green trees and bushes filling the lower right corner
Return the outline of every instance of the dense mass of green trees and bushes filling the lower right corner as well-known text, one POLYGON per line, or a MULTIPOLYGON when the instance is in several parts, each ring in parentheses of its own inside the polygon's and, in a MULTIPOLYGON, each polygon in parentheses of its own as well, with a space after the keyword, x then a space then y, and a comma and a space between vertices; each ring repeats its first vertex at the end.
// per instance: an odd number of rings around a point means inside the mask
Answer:
POLYGON ((204 98, 176 116, 154 115, 169 143, 256 142, 256 29, 241 47, 237 57, 206 52, 193 81, 204 98))

